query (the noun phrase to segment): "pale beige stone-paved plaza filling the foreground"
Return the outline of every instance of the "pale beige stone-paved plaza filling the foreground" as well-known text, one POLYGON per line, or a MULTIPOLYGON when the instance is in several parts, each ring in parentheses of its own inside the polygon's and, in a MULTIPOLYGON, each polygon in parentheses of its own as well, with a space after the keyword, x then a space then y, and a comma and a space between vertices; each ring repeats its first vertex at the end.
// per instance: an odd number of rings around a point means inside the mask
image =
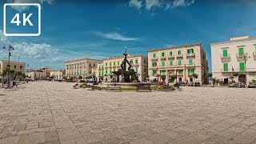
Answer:
POLYGON ((30 82, 0 90, 0 144, 256 144, 256 89, 74 90, 30 82))

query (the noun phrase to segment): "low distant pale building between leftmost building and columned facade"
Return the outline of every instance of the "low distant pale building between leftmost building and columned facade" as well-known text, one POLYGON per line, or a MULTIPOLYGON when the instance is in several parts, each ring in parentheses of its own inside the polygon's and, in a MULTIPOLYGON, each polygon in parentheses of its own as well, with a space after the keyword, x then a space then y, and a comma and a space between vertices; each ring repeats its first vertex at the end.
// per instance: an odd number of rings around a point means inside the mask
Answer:
POLYGON ((27 70, 26 77, 32 81, 46 80, 46 72, 42 70, 27 70))

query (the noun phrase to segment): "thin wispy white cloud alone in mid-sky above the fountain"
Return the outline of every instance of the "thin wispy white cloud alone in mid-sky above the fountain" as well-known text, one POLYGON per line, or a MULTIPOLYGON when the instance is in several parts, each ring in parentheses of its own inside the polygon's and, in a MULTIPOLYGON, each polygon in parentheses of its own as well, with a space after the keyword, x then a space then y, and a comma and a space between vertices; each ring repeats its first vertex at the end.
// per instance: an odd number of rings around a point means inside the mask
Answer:
POLYGON ((97 34, 97 35, 101 36, 102 38, 118 40, 118 41, 135 41, 135 40, 139 39, 139 38, 126 37, 126 36, 124 36, 122 34, 118 34, 118 33, 103 34, 100 32, 95 32, 94 34, 97 34))

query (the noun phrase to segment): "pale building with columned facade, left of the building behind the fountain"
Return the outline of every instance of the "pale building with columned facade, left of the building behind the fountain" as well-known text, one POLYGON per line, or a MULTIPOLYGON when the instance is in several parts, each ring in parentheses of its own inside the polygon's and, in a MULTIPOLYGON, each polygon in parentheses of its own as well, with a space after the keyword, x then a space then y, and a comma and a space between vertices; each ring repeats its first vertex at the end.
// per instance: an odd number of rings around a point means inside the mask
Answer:
POLYGON ((98 63, 102 63, 102 60, 82 58, 74 61, 65 62, 66 77, 78 78, 79 76, 82 76, 83 78, 86 78, 88 76, 92 76, 92 69, 97 68, 98 63))

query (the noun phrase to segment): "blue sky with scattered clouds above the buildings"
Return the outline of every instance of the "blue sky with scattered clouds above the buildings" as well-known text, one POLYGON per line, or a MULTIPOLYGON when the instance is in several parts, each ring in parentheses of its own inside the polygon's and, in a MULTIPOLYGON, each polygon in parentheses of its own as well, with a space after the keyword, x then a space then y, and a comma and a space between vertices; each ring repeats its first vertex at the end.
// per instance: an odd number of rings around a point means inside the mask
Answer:
MULTIPOLYGON (((256 2, 252 0, 33 2, 42 6, 42 34, 5 37, 0 22, 0 46, 12 42, 11 60, 19 57, 34 69, 63 69, 67 60, 121 55, 125 46, 130 54, 146 55, 146 50, 202 42, 211 70, 211 42, 226 41, 232 35, 256 37, 256 2)), ((0 50, 0 59, 7 59, 7 51, 0 50)))

